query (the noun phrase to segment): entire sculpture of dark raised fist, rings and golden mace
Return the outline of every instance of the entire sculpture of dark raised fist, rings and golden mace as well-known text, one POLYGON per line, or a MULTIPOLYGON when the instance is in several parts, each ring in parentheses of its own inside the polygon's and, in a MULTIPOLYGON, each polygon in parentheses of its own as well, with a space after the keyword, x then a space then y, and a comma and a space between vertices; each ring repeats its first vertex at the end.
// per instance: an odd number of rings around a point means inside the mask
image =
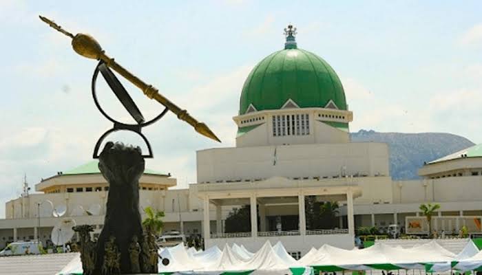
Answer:
MULTIPOLYGON (((98 167, 103 177, 109 183, 104 227, 97 243, 92 242, 90 239, 92 226, 81 225, 74 229, 81 234, 81 259, 84 274, 157 273, 160 256, 158 255, 156 238, 154 235, 143 232, 139 213, 139 179, 144 172, 145 157, 153 157, 151 144, 149 144, 145 135, 141 133, 141 130, 144 126, 148 126, 163 118, 167 111, 172 111, 177 115, 178 119, 193 126, 201 135, 218 142, 220 140, 206 124, 198 122, 185 109, 181 109, 174 102, 160 94, 154 86, 143 82, 143 80, 140 80, 140 78, 134 76, 134 74, 114 61, 114 58, 107 56, 101 45, 92 36, 88 34, 76 34, 74 36, 74 34, 63 30, 54 21, 45 17, 40 17, 40 19, 55 30, 69 36, 72 39, 72 47, 75 52, 81 56, 99 61, 94 71, 94 76, 92 76, 92 96, 98 110, 101 111, 105 118, 114 123, 113 128, 106 131, 98 139, 93 153, 93 157, 99 159, 98 167), (111 69, 114 69, 126 80, 138 87, 148 98, 163 104, 165 109, 152 120, 145 122, 143 114, 111 69), (136 124, 118 122, 102 109, 96 94, 96 82, 99 72, 118 100, 121 101, 123 107, 134 118, 136 124), (99 148, 105 137, 109 133, 119 130, 132 131, 140 135, 147 145, 147 154, 143 155, 139 147, 125 146, 122 143, 114 144, 113 142, 107 142, 102 153, 99 154, 99 148)), ((162 263, 163 265, 168 265, 169 261, 163 259, 162 263)))

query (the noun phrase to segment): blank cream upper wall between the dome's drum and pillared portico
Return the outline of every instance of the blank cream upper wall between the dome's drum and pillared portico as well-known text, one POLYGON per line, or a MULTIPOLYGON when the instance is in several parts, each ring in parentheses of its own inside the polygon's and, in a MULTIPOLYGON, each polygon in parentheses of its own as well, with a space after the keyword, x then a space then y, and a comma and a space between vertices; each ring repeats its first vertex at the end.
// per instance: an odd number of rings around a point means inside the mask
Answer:
POLYGON ((373 142, 300 144, 213 148, 197 152, 198 182, 245 181, 274 176, 302 179, 343 174, 388 176, 388 146, 373 142))

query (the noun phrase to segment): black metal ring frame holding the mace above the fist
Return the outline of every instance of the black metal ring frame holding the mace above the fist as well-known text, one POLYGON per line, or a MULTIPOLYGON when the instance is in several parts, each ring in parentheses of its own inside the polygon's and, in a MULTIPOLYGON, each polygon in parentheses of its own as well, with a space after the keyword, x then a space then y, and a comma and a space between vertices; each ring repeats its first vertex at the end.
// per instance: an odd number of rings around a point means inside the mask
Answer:
POLYGON ((167 107, 160 113, 158 114, 155 118, 145 122, 144 116, 142 113, 140 113, 140 110, 138 109, 136 103, 134 103, 134 100, 132 100, 131 96, 127 93, 121 82, 117 79, 117 77, 114 75, 114 73, 107 67, 107 65, 104 63, 104 61, 100 61, 94 70, 94 75, 92 76, 92 98, 94 98, 94 103, 96 104, 96 107, 98 111, 100 111, 107 120, 110 120, 114 123, 114 126, 112 129, 107 130, 101 137, 96 142, 96 145, 94 147, 94 154, 93 157, 94 159, 98 159, 98 148, 100 148, 103 140, 107 135, 110 133, 113 133, 115 131, 132 131, 134 133, 137 133, 140 135, 140 137, 143 138, 145 144, 147 145, 147 155, 143 155, 143 157, 154 157, 154 154, 152 153, 151 149, 151 144, 147 140, 147 137, 143 135, 141 130, 143 127, 148 126, 150 124, 153 124, 154 122, 160 120, 163 118, 163 116, 169 111, 167 107), (99 104, 98 99, 97 99, 97 92, 96 92, 96 83, 97 83, 97 76, 98 73, 101 72, 103 78, 107 82, 107 85, 109 85, 110 89, 114 92, 116 97, 118 98, 119 101, 123 104, 124 108, 127 110, 127 112, 136 120, 137 124, 126 124, 123 122, 118 122, 117 120, 114 120, 114 118, 110 117, 107 115, 107 113, 102 109, 101 104, 99 104))

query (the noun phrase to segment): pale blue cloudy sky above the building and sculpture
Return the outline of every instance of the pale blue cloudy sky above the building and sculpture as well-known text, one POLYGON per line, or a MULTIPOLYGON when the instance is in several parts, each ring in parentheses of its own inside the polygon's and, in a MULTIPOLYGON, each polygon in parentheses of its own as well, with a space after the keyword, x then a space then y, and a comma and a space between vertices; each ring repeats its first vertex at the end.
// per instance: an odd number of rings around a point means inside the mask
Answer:
MULTIPOLYGON (((0 217, 23 176, 42 178, 92 160, 112 122, 90 90, 96 61, 41 22, 91 34, 109 56, 205 122, 221 144, 172 113, 147 126, 146 166, 196 182, 196 151, 234 146, 239 96, 251 68, 284 47, 324 58, 354 113, 350 131, 443 132, 482 142, 482 1, 21 1, 0 0, 0 217)), ((147 118, 163 110, 127 82, 147 118)), ((100 81, 107 113, 129 116, 100 81)), ((128 133, 109 136, 145 145, 128 133)))

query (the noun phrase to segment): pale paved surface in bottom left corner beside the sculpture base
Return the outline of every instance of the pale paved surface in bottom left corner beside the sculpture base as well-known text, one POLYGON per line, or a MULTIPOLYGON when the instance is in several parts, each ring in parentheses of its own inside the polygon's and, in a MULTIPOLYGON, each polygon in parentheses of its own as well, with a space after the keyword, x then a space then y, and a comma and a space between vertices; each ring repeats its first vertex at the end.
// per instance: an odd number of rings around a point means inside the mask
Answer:
POLYGON ((75 256, 76 253, 0 257, 0 274, 54 275, 75 256))

